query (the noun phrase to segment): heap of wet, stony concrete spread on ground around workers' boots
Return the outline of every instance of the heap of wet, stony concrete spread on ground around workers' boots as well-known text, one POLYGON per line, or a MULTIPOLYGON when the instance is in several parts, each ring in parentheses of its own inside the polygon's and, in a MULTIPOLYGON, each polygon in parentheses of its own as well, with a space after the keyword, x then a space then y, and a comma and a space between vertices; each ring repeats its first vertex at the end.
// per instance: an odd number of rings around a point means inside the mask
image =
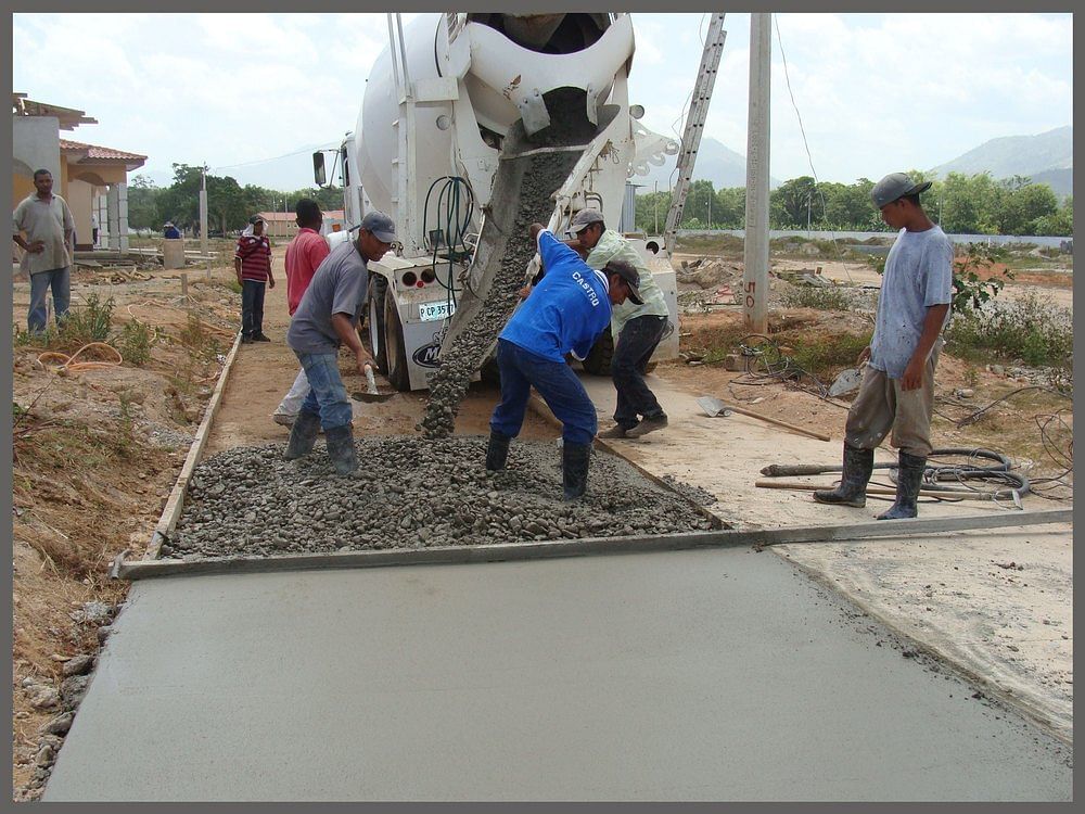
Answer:
MULTIPOLYGON (((335 476, 322 448, 237 447, 201 463, 165 559, 425 548, 706 530, 685 498, 621 458, 597 454, 580 500, 562 500, 553 443, 513 442, 509 468, 485 469, 486 440, 356 442, 358 473, 335 476)), ((322 447, 322 445, 321 445, 322 447)))

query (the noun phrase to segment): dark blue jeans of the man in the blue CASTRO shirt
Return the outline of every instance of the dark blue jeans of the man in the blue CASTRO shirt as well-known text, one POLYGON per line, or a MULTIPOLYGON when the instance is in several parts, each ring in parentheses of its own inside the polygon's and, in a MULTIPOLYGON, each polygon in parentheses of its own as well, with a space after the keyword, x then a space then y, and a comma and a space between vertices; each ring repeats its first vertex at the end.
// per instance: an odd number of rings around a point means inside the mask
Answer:
POLYGON ((565 443, 591 443, 599 429, 596 406, 569 365, 546 359, 508 340, 497 341, 497 365, 501 371, 501 403, 489 419, 492 430, 510 437, 520 434, 534 384, 561 421, 565 443))

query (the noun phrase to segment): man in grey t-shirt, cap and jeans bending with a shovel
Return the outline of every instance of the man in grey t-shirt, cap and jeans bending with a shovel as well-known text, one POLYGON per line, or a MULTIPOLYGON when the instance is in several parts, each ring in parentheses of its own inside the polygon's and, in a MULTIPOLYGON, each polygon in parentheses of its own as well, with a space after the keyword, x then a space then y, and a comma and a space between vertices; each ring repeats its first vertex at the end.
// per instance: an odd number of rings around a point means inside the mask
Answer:
POLYGON ((366 352, 358 338, 358 319, 369 289, 369 263, 384 256, 396 239, 392 218, 370 212, 361 219, 357 240, 336 246, 317 267, 286 331, 286 344, 309 381, 309 395, 290 430, 283 458, 312 451, 323 427, 328 457, 341 475, 358 468, 350 420, 350 399, 339 372, 339 348, 349 347, 365 376, 366 352))

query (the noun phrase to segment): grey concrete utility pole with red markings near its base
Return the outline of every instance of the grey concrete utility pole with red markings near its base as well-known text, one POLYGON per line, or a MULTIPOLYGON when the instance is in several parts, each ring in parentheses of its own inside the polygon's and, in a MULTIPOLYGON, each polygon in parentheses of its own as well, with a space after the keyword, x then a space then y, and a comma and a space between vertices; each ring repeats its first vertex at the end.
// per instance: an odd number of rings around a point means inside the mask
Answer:
POLYGON ((768 333, 768 125, 771 14, 750 15, 750 117, 742 313, 746 330, 768 333))

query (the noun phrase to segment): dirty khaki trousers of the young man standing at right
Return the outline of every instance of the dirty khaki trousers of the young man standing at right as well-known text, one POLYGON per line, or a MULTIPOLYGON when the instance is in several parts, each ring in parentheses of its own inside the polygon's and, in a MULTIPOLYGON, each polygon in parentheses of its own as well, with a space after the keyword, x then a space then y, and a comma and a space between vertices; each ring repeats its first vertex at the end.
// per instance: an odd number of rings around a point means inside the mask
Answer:
POLYGON ((860 449, 873 449, 890 431, 890 443, 908 455, 926 458, 931 454, 931 416, 934 414, 934 368, 939 351, 931 353, 923 368, 923 383, 902 390, 899 379, 869 365, 863 374, 859 394, 852 402, 844 424, 844 440, 860 449))

